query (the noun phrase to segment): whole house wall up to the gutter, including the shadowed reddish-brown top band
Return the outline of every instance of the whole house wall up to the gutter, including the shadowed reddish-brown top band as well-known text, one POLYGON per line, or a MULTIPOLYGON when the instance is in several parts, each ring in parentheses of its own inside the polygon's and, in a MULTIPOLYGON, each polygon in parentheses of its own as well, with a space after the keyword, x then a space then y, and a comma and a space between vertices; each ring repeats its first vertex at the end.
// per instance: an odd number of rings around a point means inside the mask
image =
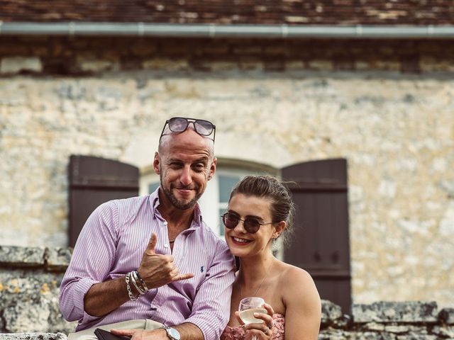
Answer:
POLYGON ((346 158, 353 301, 454 305, 450 42, 0 37, 0 244, 66 246, 70 155, 144 174, 186 115, 220 166, 346 158))

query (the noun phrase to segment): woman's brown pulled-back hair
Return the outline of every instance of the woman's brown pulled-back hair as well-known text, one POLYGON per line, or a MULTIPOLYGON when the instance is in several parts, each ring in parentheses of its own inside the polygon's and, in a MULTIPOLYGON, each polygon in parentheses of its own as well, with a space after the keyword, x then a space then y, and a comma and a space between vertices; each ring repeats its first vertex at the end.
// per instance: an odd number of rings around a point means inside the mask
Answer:
POLYGON ((285 221, 287 223, 287 231, 292 227, 295 212, 294 203, 290 197, 289 190, 275 177, 245 176, 233 188, 229 201, 237 193, 271 200, 272 222, 285 221))

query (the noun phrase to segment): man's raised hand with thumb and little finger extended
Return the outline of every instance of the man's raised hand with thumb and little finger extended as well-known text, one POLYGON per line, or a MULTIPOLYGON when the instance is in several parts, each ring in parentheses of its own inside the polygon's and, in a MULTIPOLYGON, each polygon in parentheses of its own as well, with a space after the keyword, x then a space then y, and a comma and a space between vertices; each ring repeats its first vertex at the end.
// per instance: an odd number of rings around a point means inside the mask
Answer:
POLYGON ((157 236, 153 232, 138 268, 138 273, 145 281, 148 289, 162 287, 162 285, 167 285, 173 281, 187 280, 194 277, 193 273, 180 274, 173 262, 172 255, 156 254, 156 244, 157 236))

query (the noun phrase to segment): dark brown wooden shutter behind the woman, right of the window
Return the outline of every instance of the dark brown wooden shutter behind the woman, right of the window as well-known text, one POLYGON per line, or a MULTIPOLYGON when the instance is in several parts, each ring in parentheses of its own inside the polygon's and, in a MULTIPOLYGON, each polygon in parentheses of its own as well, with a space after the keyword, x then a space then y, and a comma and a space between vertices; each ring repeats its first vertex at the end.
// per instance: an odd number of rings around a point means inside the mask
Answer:
POLYGON ((284 260, 311 273, 321 298, 351 312, 347 161, 328 159, 282 169, 297 205, 284 260))

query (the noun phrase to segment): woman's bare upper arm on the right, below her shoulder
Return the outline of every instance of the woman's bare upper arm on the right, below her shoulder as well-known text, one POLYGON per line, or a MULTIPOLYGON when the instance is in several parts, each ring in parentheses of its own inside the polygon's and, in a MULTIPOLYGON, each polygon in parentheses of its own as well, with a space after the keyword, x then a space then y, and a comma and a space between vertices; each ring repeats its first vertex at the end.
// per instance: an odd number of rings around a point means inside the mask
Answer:
POLYGON ((290 267, 281 283, 285 310, 285 340, 316 340, 321 320, 319 292, 309 273, 290 267))

